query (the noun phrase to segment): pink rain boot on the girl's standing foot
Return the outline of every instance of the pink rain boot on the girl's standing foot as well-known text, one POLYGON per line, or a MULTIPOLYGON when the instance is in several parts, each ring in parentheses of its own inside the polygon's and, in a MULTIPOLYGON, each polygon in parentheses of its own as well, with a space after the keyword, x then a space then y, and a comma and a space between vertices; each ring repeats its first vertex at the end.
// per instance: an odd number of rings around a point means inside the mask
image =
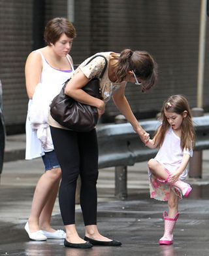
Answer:
POLYGON ((174 229, 178 216, 179 213, 176 213, 174 219, 172 219, 168 217, 168 213, 166 211, 163 212, 163 217, 165 220, 165 231, 163 237, 161 237, 161 239, 159 240, 159 244, 172 244, 174 240, 172 230, 174 229))

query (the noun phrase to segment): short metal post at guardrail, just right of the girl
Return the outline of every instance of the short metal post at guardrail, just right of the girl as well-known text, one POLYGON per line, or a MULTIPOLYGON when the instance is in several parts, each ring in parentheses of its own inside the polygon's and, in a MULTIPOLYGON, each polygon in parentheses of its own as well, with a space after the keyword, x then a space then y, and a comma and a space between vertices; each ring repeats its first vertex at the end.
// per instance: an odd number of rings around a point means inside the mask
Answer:
MULTIPOLYGON (((191 109, 193 117, 202 117, 204 110, 201 107, 191 109)), ((189 160, 189 177, 202 178, 202 151, 194 151, 189 160)))

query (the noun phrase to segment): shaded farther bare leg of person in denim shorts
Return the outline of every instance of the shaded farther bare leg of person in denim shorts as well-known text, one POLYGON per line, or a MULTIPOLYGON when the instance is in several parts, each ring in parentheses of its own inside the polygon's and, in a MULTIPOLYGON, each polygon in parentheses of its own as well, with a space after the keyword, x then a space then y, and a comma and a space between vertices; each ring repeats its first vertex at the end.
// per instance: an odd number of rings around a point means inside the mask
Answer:
POLYGON ((52 217, 52 211, 54 208, 54 204, 56 202, 57 198, 57 192, 59 189, 59 182, 60 182, 61 176, 59 179, 57 179, 56 183, 54 184, 54 187, 50 191, 50 194, 48 196, 48 200, 46 201, 46 204, 44 205, 44 208, 42 209, 39 217, 39 228, 41 230, 45 230, 48 232, 55 232, 56 230, 52 229, 50 225, 51 217, 52 217))

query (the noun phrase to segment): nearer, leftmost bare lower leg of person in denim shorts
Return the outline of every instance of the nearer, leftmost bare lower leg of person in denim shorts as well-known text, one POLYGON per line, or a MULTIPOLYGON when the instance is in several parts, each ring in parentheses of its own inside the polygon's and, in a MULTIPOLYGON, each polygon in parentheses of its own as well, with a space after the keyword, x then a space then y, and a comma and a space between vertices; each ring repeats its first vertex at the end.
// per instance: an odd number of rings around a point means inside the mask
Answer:
MULTIPOLYGON (((28 219, 30 232, 36 232, 40 230, 39 228, 39 217, 43 210, 46 202, 48 202, 48 197, 54 185, 60 180, 61 170, 60 168, 54 168, 45 172, 39 179, 37 187, 33 195, 33 202, 31 206, 31 214, 28 219)), ((54 203, 53 203, 54 205, 54 203)))

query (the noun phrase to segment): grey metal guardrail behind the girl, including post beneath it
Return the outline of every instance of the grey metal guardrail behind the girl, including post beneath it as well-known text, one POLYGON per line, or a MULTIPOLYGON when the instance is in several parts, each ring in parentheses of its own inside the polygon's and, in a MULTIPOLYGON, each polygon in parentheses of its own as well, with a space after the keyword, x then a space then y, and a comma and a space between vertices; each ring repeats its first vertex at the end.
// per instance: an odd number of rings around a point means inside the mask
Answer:
MULTIPOLYGON (((157 120, 140 122, 142 128, 150 134, 150 137, 153 136, 159 124, 157 120)), ((195 151, 209 149, 209 116, 193 117, 193 124, 196 137, 195 151)), ((156 155, 157 149, 146 147, 129 123, 101 126, 97 128, 97 137, 99 168, 121 167, 120 174, 116 174, 116 184, 119 184, 120 187, 119 191, 116 191, 116 195, 119 198, 125 198, 127 193, 125 184, 127 180, 125 177, 126 166, 133 166, 137 162, 149 160, 156 155), (120 186, 121 182, 123 182, 122 186, 120 186)))

